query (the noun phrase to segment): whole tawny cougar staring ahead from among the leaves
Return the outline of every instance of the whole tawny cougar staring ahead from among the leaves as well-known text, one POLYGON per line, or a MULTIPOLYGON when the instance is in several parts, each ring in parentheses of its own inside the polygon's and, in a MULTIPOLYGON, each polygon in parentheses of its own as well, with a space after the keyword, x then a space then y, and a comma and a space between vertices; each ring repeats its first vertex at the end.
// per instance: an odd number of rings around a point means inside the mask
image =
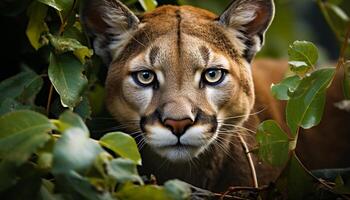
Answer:
POLYGON ((273 16, 272 0, 234 0, 220 16, 170 5, 136 16, 118 0, 87 1, 82 21, 109 66, 106 104, 138 141, 143 174, 213 191, 256 185, 252 166, 260 184, 276 178, 248 153, 261 121, 285 127, 270 86, 287 62, 252 62, 273 16))

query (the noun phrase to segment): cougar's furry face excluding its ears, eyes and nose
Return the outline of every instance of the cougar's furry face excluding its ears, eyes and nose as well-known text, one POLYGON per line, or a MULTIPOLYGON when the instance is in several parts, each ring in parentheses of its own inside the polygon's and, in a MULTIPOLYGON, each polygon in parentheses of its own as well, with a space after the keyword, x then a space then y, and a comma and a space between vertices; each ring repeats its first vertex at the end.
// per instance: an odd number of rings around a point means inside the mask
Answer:
POLYGON ((234 123, 242 123, 254 103, 243 36, 215 19, 189 6, 158 8, 140 18, 138 29, 125 35, 123 50, 112 55, 106 81, 109 110, 130 130, 141 130, 170 160, 200 154, 217 136, 220 121, 238 116, 234 123), (202 87, 203 72, 213 67, 227 72, 225 80, 202 87), (135 84, 131 74, 143 70, 154 72, 157 90, 135 84), (164 124, 167 119, 190 119, 193 126, 177 138, 164 124), (186 147, 176 146, 179 142, 186 147))

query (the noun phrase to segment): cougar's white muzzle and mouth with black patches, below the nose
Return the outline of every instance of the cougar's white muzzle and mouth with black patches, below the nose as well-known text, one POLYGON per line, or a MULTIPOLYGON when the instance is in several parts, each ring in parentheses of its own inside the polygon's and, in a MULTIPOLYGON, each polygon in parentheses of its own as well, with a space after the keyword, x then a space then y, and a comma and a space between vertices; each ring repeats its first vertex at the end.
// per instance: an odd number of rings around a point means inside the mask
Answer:
MULTIPOLYGON (((159 115, 158 115, 159 116, 159 115)), ((141 118, 145 142, 170 161, 187 161, 202 153, 217 136, 215 116, 197 114, 194 122, 178 134, 157 115, 141 118)))

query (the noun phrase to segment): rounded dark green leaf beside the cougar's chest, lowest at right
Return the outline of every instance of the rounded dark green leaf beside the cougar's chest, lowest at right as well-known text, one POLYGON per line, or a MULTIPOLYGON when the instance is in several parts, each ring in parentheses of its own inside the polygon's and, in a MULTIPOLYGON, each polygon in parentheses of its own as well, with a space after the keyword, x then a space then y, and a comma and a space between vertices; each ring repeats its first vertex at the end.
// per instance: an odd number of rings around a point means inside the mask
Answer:
POLYGON ((264 121, 258 127, 256 140, 259 157, 275 166, 283 166, 289 159, 290 141, 287 134, 273 120, 264 121))

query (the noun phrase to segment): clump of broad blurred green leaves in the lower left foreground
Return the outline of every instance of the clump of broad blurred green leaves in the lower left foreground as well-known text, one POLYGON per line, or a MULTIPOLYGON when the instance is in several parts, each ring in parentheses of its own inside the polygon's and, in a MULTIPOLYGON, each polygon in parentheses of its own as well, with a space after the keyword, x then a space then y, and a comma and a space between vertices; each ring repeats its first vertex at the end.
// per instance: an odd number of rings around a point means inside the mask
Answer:
POLYGON ((177 180, 164 187, 145 185, 137 172, 141 157, 135 141, 121 132, 93 140, 83 120, 71 111, 49 120, 37 112, 19 110, 1 116, 0 125, 0 191, 4 198, 14 195, 13 188, 19 185, 29 188, 33 199, 190 196, 189 186, 177 180), (38 185, 32 184, 35 181, 38 185))

